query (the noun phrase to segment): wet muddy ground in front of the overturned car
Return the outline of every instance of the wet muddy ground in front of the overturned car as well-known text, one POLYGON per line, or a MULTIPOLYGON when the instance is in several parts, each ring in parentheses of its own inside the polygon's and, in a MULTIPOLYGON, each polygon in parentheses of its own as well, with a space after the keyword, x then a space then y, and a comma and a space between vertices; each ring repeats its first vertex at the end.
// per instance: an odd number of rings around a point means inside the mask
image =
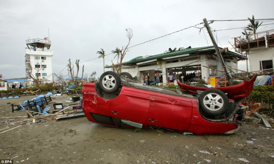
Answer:
MULTIPOLYGON (((0 117, 26 116, 25 111, 11 113, 6 103, 31 98, 0 100, 0 117)), ((66 104, 68 99, 65 95, 53 102, 66 104)), ((85 117, 28 124, 0 119, 0 133, 22 124, 0 134, 0 159, 20 164, 274 163, 274 129, 264 128, 257 119, 241 123, 241 129, 233 135, 197 136, 155 130, 134 132, 91 123, 85 117)))

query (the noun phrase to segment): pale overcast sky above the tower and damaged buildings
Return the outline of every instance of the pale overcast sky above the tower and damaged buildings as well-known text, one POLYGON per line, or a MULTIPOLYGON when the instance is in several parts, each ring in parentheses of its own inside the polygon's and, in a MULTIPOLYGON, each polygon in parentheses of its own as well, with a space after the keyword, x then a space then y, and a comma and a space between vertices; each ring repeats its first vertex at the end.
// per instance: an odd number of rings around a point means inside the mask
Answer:
MULTIPOLYGON (((207 20, 274 18, 274 0, 0 0, 0 74, 3 78, 24 78, 25 40, 45 38, 51 41, 53 72, 59 74, 72 61, 87 61, 127 43, 125 29, 133 29, 130 45, 207 20)), ((244 27, 249 21, 222 21, 210 24, 213 29, 244 27)), ((274 23, 265 21, 263 24, 274 23)), ((197 27, 202 27, 198 25, 197 27)), ((258 31, 274 29, 274 24, 258 31)), ((218 31, 220 47, 232 46, 242 29, 218 31)), ((123 62, 137 56, 155 55, 169 47, 212 45, 206 30, 190 28, 131 48, 123 62), (205 32, 205 34, 204 34, 205 32)), ((110 64, 114 55, 105 58, 110 64)), ((103 72, 103 60, 85 64, 84 75, 103 72)), ((66 69, 61 72, 68 74, 66 69)))

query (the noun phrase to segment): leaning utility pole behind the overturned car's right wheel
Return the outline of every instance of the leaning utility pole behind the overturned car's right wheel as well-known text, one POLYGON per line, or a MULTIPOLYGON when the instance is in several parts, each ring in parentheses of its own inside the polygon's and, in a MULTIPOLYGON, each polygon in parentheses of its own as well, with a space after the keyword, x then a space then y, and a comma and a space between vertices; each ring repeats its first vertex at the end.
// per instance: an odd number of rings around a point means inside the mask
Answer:
MULTIPOLYGON (((203 21, 204 21, 204 23, 205 23, 207 32, 208 32, 209 37, 210 37, 210 39, 211 39, 211 41, 212 41, 212 43, 213 43, 213 46, 214 46, 214 48, 215 48, 215 51, 216 51, 216 53, 217 53, 217 56, 218 56, 219 61, 222 63, 223 66, 226 66, 226 63, 225 63, 225 61, 224 61, 224 59, 223 59, 223 57, 222 57, 222 54, 221 54, 221 52, 220 52, 219 47, 218 47, 217 44, 216 44, 216 41, 215 41, 215 39, 214 39, 214 37, 213 37, 213 34, 212 34, 211 29, 210 29, 210 27, 209 27, 209 25, 208 25, 208 23, 207 23, 206 18, 204 18, 203 21)), ((232 85, 231 75, 230 75, 230 73, 228 72, 228 69, 227 69, 226 67, 224 67, 224 69, 225 69, 225 71, 226 71, 226 76, 227 76, 227 78, 228 78, 228 84, 229 84, 229 85, 232 85)))

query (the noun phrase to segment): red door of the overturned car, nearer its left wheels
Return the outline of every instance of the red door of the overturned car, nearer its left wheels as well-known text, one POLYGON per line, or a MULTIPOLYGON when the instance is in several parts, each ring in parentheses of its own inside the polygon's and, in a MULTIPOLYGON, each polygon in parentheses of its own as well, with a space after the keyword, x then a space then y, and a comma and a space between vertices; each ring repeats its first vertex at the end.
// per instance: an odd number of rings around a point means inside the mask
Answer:
POLYGON ((149 109, 150 95, 140 89, 122 90, 111 102, 112 116, 136 123, 145 123, 149 109))

